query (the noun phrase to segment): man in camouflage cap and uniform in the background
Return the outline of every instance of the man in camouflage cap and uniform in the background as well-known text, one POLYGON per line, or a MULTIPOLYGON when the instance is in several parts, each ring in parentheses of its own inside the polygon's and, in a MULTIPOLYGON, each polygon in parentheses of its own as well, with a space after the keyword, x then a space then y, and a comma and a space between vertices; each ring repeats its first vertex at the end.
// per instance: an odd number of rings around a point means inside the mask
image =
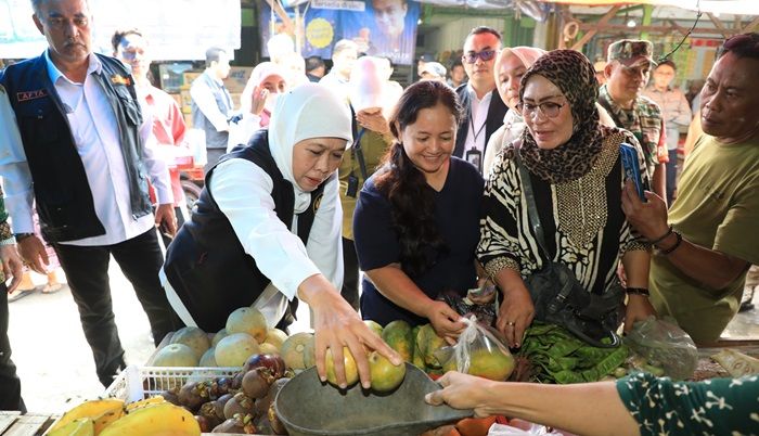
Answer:
POLYGON ((606 84, 600 89, 599 103, 606 108, 617 127, 638 138, 645 155, 653 191, 667 198, 666 164, 668 161, 661 110, 642 94, 648 82, 653 60, 649 41, 622 39, 608 47, 604 68, 606 84))

